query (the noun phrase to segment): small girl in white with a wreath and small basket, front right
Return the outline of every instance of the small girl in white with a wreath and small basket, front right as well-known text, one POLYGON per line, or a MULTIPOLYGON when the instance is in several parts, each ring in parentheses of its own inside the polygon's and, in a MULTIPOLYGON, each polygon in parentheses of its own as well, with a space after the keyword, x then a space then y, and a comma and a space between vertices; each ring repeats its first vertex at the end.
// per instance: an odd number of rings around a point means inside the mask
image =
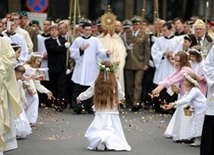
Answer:
POLYGON ((184 85, 186 87, 185 94, 180 100, 171 102, 169 105, 165 105, 163 108, 168 110, 173 107, 177 108, 189 103, 188 108, 193 111, 193 117, 188 124, 186 137, 189 140, 195 138, 195 142, 192 143, 191 146, 200 146, 202 127, 206 110, 206 97, 199 89, 197 76, 194 73, 185 73, 184 79, 184 85))

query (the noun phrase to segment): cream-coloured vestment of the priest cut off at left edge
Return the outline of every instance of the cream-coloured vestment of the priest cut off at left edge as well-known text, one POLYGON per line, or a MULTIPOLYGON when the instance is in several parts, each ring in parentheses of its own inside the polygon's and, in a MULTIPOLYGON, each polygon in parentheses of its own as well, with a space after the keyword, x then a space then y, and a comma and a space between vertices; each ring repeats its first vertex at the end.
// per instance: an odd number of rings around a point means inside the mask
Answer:
POLYGON ((0 154, 17 148, 14 119, 21 113, 20 94, 13 69, 15 52, 0 37, 0 154))

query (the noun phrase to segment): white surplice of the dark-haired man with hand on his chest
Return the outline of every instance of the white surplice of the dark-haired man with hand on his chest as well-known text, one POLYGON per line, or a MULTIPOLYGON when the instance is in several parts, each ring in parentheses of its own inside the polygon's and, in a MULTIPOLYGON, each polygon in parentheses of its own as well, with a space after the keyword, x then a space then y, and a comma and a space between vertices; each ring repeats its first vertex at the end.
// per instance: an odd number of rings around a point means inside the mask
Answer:
POLYGON ((106 51, 107 49, 96 37, 76 38, 70 47, 70 56, 76 62, 72 81, 83 86, 89 86, 99 73, 97 58, 107 59, 106 51), (89 47, 84 50, 83 55, 80 55, 80 46, 83 44, 89 44, 89 47))

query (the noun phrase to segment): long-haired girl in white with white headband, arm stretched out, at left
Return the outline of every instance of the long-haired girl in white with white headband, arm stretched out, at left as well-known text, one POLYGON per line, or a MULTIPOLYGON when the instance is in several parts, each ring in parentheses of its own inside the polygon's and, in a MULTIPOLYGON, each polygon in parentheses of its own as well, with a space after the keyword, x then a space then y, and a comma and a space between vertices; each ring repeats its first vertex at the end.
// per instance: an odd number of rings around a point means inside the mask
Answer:
POLYGON ((40 83, 40 81, 44 80, 45 78, 44 74, 40 72, 42 58, 43 56, 41 53, 34 52, 23 65, 26 69, 25 80, 27 83, 25 84, 30 86, 27 88, 28 91, 26 92, 26 98, 28 102, 26 116, 31 123, 31 126, 35 125, 38 118, 39 98, 37 91, 47 94, 48 99, 53 98, 52 92, 40 83))

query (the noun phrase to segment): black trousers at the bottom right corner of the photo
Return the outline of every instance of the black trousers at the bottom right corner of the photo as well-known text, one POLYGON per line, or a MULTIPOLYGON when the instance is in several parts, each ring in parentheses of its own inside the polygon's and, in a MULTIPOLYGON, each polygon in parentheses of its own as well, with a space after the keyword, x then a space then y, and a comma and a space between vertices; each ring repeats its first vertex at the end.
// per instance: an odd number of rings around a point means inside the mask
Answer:
POLYGON ((205 115, 200 155, 214 155, 214 116, 205 115))

